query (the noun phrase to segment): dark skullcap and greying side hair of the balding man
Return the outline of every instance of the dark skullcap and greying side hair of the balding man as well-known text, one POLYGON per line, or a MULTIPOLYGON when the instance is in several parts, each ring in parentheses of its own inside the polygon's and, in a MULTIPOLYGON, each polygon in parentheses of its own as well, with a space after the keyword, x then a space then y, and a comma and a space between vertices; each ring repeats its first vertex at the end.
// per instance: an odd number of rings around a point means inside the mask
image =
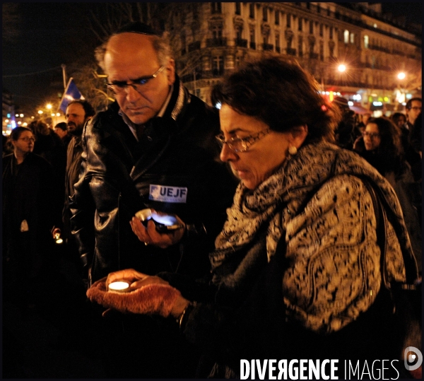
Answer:
MULTIPOLYGON (((156 54, 158 54, 158 61, 160 65, 167 64, 167 60, 172 58, 172 49, 170 46, 169 33, 162 32, 160 30, 153 29, 150 25, 141 23, 140 21, 135 21, 134 23, 129 23, 117 30, 110 35, 120 35, 121 33, 138 33, 140 35, 148 35, 153 39, 153 49, 155 49, 156 54)), ((100 47, 95 49, 95 58, 98 61, 99 66, 105 70, 105 53, 107 42, 109 42, 110 37, 104 42, 100 47)))

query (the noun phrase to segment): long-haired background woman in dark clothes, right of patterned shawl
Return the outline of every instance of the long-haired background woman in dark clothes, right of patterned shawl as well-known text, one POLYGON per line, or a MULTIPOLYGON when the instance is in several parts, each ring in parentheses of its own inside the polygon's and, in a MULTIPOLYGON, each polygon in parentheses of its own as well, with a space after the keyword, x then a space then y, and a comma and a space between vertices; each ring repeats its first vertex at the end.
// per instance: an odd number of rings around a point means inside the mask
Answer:
POLYGON ((389 118, 370 118, 363 138, 355 141, 354 151, 360 153, 368 163, 383 175, 391 184, 398 197, 413 252, 421 271, 421 223, 418 207, 421 205, 420 184, 405 160, 399 129, 389 118))

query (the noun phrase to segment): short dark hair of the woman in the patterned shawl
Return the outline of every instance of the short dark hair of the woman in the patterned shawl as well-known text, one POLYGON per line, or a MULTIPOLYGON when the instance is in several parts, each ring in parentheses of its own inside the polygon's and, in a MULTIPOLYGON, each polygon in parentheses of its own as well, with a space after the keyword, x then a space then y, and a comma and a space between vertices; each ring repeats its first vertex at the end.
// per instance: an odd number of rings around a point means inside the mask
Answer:
POLYGON ((214 105, 228 105, 273 131, 307 125, 309 141, 334 141, 340 112, 321 95, 317 81, 297 61, 265 57, 247 61, 213 87, 214 105))

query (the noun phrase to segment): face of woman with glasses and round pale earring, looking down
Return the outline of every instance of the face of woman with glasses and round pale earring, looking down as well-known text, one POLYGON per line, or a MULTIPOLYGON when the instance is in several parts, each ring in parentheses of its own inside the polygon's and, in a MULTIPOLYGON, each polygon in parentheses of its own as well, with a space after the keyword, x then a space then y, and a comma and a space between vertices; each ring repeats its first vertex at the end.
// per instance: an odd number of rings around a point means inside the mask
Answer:
POLYGON ((288 147, 297 146, 290 132, 272 131, 261 120, 239 114, 228 105, 220 108, 219 115, 220 138, 226 142, 220 159, 230 164, 232 172, 248 189, 255 189, 271 176, 285 160, 288 147))

